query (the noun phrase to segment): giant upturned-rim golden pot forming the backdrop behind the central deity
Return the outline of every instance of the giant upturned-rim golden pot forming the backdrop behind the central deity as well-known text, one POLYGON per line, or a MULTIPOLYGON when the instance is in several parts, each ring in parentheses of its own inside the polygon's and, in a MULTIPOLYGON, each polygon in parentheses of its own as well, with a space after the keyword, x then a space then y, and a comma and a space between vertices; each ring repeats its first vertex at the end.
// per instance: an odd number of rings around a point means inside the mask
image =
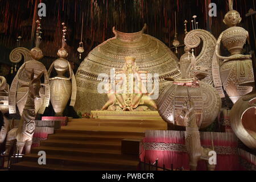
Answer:
POLYGON ((137 67, 148 73, 159 74, 159 88, 163 88, 166 77, 180 77, 179 61, 176 55, 168 49, 160 40, 144 34, 142 31, 135 33, 123 33, 115 30, 114 38, 106 40, 94 48, 82 61, 76 72, 77 100, 75 110, 85 113, 100 109, 107 101, 106 94, 98 93, 98 84, 110 76, 110 69, 120 70, 123 67, 123 59, 126 56, 136 58, 137 67), (102 80, 98 75, 104 73, 102 80))

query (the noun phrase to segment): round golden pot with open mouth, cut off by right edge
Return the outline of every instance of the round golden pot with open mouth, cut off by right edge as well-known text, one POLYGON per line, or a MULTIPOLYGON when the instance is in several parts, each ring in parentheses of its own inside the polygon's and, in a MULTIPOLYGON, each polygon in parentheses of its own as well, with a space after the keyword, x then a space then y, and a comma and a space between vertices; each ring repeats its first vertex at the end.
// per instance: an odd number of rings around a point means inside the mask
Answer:
POLYGON ((247 147, 256 150, 256 91, 246 94, 234 104, 230 125, 247 147))

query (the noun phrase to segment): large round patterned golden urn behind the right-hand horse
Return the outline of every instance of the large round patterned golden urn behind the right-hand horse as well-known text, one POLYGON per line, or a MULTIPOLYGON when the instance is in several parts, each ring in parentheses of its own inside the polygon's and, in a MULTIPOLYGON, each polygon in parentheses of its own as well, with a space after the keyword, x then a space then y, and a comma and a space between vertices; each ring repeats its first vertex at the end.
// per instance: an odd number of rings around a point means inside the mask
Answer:
POLYGON ((182 114, 183 105, 188 100, 187 86, 195 105, 197 126, 205 128, 216 119, 221 109, 221 98, 213 86, 198 80, 177 80, 163 89, 157 101, 158 112, 168 123, 168 129, 186 126, 182 114), (196 83, 195 83, 196 82, 196 83), (182 83, 182 84, 181 84, 182 83), (192 86, 198 84, 198 86, 192 86))

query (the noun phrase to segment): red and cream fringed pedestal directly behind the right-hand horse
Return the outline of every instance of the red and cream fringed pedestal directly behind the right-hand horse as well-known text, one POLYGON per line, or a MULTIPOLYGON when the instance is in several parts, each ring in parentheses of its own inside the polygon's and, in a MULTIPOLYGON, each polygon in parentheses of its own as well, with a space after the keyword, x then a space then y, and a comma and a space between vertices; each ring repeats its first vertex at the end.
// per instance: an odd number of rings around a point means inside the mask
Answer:
MULTIPOLYGON (((212 148, 217 153, 215 170, 239 170, 238 141, 233 133, 200 132, 201 146, 212 148)), ((159 166, 166 168, 184 167, 189 169, 189 158, 185 145, 185 131, 147 130, 145 133, 144 154, 146 161, 159 159, 159 166)), ((143 160, 143 158, 142 158, 143 160)), ((205 170, 205 163, 199 162, 197 170, 205 170)))

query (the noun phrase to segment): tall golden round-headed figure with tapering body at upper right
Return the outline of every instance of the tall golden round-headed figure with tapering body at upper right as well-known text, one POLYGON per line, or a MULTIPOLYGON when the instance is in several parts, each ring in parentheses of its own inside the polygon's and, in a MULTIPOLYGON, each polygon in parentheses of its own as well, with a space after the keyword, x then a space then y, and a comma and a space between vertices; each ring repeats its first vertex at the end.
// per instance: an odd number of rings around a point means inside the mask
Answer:
POLYGON ((229 28, 220 34, 215 52, 218 58, 224 60, 220 68, 222 85, 230 100, 235 103, 240 97, 253 89, 251 86, 240 86, 240 84, 252 82, 254 77, 251 55, 242 55, 241 53, 249 34, 244 28, 237 27, 242 18, 236 10, 233 10, 233 1, 231 0, 229 1, 229 9, 230 11, 223 20, 229 28), (221 42, 231 53, 231 56, 224 57, 220 55, 221 42))

